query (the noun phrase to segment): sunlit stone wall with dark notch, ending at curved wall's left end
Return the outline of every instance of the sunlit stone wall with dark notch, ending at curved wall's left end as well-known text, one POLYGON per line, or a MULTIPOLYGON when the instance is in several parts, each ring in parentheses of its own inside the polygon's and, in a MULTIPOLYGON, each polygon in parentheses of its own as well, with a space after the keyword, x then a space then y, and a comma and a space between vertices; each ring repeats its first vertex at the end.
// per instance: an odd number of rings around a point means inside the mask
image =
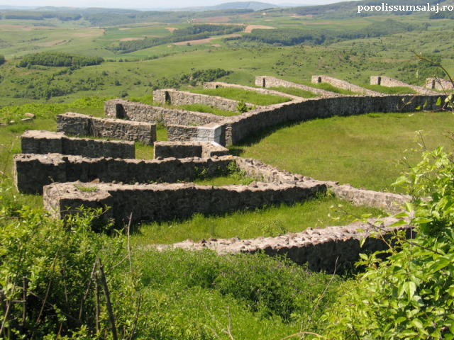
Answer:
POLYGON ((219 115, 175 108, 160 108, 142 103, 113 99, 104 103, 104 113, 109 118, 121 118, 146 123, 164 125, 204 125, 223 120, 219 115))

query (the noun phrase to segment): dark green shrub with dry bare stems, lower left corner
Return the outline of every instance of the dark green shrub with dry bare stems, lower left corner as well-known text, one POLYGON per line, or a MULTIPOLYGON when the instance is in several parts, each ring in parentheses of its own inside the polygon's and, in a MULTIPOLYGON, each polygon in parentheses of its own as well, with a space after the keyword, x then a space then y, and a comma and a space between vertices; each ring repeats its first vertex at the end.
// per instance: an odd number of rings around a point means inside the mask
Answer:
MULTIPOLYGON (((0 195, 6 195, 3 186, 0 195)), ((125 238, 92 232, 89 225, 98 213, 84 210, 63 225, 40 210, 1 200, 0 301, 5 307, 0 310, 2 338, 43 339, 53 334, 55 339, 58 333, 62 339, 91 339, 96 334, 96 319, 99 334, 110 332, 106 302, 99 295, 101 304, 96 302, 94 289, 94 280, 98 280, 94 278, 95 263, 100 263, 99 259, 116 301, 116 327, 131 334, 133 325, 129 321, 135 311, 126 305, 135 303, 134 285, 129 275, 111 269, 123 257, 125 238)))

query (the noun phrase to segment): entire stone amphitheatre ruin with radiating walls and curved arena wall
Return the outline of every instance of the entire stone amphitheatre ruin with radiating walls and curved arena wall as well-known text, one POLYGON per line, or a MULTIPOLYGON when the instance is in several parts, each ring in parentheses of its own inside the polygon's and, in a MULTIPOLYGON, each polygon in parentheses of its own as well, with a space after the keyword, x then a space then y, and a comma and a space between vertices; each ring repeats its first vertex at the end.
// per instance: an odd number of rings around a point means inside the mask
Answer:
MULTIPOLYGON (((317 76, 317 81, 319 78, 332 81, 320 76, 317 76)), ((337 86, 349 86, 344 83, 336 82, 337 86)), ((289 81, 274 77, 257 77, 256 84, 263 87, 292 86, 289 81)), ((204 86, 241 87, 249 91, 276 94, 272 90, 220 82, 204 86)), ((293 86, 301 89, 304 87, 299 84, 293 86)), ((320 94, 321 98, 306 99, 281 94, 289 98, 289 101, 255 107, 233 117, 159 108, 120 99, 105 103, 107 118, 93 118, 77 113, 59 115, 58 130, 65 131, 68 135, 104 136, 155 144, 155 159, 128 159, 127 152, 124 155, 115 154, 114 149, 128 149, 132 142, 74 138, 61 132, 26 132, 23 135, 24 153, 14 157, 16 188, 24 193, 43 193, 45 208, 55 217, 65 218, 80 205, 84 205, 104 209, 102 218, 115 220, 117 224, 127 223, 130 218, 132 222, 140 222, 187 217, 194 212, 211 214, 246 207, 294 203, 314 198, 316 193, 327 190, 357 205, 370 205, 387 212, 399 211, 399 207, 409 200, 408 197, 362 190, 348 184, 316 181, 299 174, 279 171, 254 159, 228 155, 228 149, 223 146, 235 144, 262 128, 279 123, 333 115, 395 112, 399 108, 414 111, 416 106, 424 102, 427 102, 426 107, 433 109, 440 96, 389 96, 373 93, 342 96, 306 87, 309 91, 320 94), (408 102, 405 106, 402 106, 402 97, 408 102), (169 142, 155 142, 156 124, 167 126, 169 142), (256 181, 249 186, 222 187, 187 183, 202 171, 209 176, 222 173, 232 162, 256 181)), ((355 91, 351 86, 349 89, 355 91)), ((175 90, 161 90, 155 95, 156 98, 161 96, 166 102, 180 104, 200 101, 224 109, 231 105, 223 98, 194 96, 175 90)), ((389 227, 393 221, 389 218, 384 220, 381 232, 389 233, 393 229, 389 227)), ((187 240, 157 247, 207 248, 221 254, 238 251, 253 253, 261 249, 270 255, 284 254, 297 263, 309 263, 309 268, 313 270, 333 272, 336 261, 346 266, 349 261, 358 258, 360 251, 383 249, 384 242, 370 237, 374 230, 376 228, 372 223, 353 224, 326 229, 309 228, 305 232, 274 238, 209 239, 201 242, 187 240), (362 229, 362 232, 358 229, 362 229), (367 238, 365 249, 360 249, 359 246, 362 237, 367 238)))

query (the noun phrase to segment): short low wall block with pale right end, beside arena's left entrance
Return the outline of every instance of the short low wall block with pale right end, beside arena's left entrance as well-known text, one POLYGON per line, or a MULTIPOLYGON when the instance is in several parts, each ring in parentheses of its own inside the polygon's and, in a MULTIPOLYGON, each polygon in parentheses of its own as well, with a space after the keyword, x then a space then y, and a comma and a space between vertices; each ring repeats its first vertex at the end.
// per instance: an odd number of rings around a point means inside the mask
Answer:
POLYGON ((215 142, 155 142, 155 158, 187 158, 228 155, 228 149, 215 142))

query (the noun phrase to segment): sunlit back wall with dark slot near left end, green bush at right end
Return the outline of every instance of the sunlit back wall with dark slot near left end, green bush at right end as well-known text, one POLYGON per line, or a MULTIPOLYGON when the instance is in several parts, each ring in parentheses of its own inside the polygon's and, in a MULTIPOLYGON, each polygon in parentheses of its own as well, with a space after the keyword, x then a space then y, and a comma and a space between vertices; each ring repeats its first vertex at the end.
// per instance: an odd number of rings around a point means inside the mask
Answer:
MULTIPOLYGON (((238 101, 226 99, 218 96, 207 96, 206 94, 192 94, 191 92, 177 91, 174 89, 155 90, 153 91, 153 100, 157 103, 168 103, 177 106, 188 104, 202 104, 212 106, 224 111, 236 112, 238 101)), ((252 108, 254 105, 246 103, 246 106, 252 108)))

